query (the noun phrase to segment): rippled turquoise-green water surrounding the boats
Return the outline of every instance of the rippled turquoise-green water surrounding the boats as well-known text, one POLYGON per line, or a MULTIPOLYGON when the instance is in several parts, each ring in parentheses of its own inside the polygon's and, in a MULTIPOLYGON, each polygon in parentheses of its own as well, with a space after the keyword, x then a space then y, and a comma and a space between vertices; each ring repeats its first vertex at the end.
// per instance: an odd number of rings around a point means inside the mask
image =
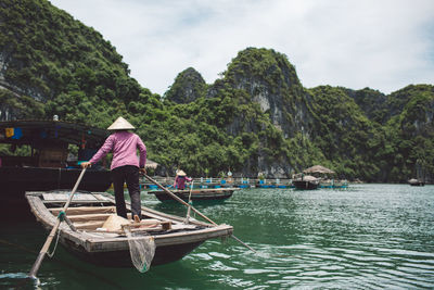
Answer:
MULTIPOLYGON (((150 207, 182 205, 142 194, 150 207)), ((348 189, 243 189, 195 203, 233 239, 205 242, 179 262, 140 274, 84 263, 61 247, 39 285, 25 279, 47 234, 33 218, 1 224, 0 288, 10 289, 433 289, 434 186, 352 185, 348 189)))

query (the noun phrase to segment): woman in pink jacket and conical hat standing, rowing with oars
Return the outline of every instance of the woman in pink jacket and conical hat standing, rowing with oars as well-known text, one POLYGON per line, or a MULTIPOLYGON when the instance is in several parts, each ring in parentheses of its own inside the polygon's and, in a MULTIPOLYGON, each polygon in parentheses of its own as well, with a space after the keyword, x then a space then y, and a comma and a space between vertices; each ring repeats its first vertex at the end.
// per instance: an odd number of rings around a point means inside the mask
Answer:
POLYGON ((124 182, 127 184, 131 198, 131 212, 135 219, 141 219, 139 174, 146 173, 146 147, 137 134, 128 130, 136 129, 128 121, 118 117, 107 130, 114 133, 108 136, 104 144, 89 162, 81 163, 81 167, 90 167, 107 153, 113 152, 112 181, 115 190, 116 213, 127 218, 127 206, 124 198, 124 182), (137 150, 140 159, 137 157, 137 150), (137 216, 137 217, 136 217, 137 216))

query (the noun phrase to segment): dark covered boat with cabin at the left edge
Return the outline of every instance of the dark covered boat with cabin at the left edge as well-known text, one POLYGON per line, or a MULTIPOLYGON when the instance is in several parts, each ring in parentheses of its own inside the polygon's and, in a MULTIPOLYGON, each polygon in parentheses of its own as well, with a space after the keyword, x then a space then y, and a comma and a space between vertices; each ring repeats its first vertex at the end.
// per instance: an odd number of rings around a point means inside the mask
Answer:
MULTIPOLYGON (((0 198, 20 196, 28 190, 71 189, 81 168, 104 142, 105 129, 61 121, 0 122, 0 198), (5 197, 8 196, 8 197, 5 197)), ((79 189, 105 191, 110 171, 92 166, 79 189)))

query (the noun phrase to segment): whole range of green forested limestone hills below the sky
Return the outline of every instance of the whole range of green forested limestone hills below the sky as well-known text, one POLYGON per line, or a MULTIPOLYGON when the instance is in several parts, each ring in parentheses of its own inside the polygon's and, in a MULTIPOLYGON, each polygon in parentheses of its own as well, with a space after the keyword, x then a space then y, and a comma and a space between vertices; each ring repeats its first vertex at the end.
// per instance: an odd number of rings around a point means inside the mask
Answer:
POLYGON ((291 177, 322 164, 367 181, 405 182, 417 166, 434 176, 432 85, 307 89, 286 55, 246 48, 214 84, 189 67, 158 96, 101 34, 46 0, 0 2, 0 119, 107 127, 122 115, 162 174, 291 177))

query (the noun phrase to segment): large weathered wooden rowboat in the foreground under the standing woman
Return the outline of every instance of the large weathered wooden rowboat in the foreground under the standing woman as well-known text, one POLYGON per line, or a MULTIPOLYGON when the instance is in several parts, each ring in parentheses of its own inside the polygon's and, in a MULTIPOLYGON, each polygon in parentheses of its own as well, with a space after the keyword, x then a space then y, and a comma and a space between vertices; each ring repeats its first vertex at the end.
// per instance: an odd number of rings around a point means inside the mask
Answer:
MULTIPOLYGON (((67 191, 26 192, 25 194, 36 218, 51 230, 59 213, 68 199, 67 191)), ((127 203, 128 211, 130 211, 127 203)), ((62 222, 60 243, 78 257, 97 265, 132 266, 128 238, 123 230, 107 231, 101 227, 111 215, 116 214, 114 197, 105 192, 76 192, 66 216, 73 226, 62 222)), ((129 214, 130 215, 130 214, 129 214)), ((192 217, 184 224, 183 217, 168 215, 142 206, 143 219, 148 225, 131 229, 135 235, 152 236, 155 255, 152 265, 178 261, 204 241, 229 237, 233 228, 229 225, 212 225, 192 217), (167 226, 169 225, 169 226, 167 226)))

